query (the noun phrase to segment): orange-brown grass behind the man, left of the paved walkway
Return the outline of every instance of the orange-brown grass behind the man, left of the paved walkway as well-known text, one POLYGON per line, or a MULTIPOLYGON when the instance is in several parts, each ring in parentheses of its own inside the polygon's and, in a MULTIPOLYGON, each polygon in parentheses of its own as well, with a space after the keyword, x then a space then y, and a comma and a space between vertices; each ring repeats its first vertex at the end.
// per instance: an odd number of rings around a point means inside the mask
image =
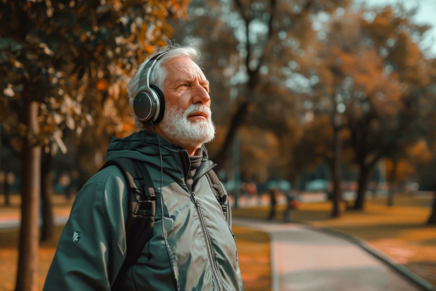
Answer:
MULTIPOLYGON (((19 200, 14 199, 13 205, 0 207, 1 218, 19 218, 19 200)), ((71 202, 65 202, 63 197, 55 201, 54 212, 68 214, 71 202), (69 205, 69 207, 68 207, 69 205)), ((38 252, 38 290, 42 290, 48 268, 54 256, 54 251, 61 236, 63 226, 57 226, 52 240, 41 243, 38 252)), ((18 229, 0 231, 0 290, 14 290, 18 260, 18 229)), ((266 233, 247 227, 233 226, 238 248, 238 263, 242 273, 245 290, 270 290, 271 267, 269 264, 269 237, 266 233)))

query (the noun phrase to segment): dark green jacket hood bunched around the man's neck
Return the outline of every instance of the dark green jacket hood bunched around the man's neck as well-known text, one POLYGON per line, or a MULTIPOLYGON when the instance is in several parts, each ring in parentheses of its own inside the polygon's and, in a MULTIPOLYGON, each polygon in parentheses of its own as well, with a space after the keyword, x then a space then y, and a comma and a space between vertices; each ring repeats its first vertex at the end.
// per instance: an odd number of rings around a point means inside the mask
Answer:
MULTIPOLYGON (((112 137, 106 151, 106 161, 118 158, 127 157, 140 161, 149 161, 150 156, 159 156, 158 138, 161 148, 162 158, 170 154, 185 154, 187 151, 183 148, 170 144, 160 135, 147 130, 140 130, 128 137, 120 139, 112 137)), ((201 146, 202 161, 208 161, 208 152, 204 145, 201 146)))

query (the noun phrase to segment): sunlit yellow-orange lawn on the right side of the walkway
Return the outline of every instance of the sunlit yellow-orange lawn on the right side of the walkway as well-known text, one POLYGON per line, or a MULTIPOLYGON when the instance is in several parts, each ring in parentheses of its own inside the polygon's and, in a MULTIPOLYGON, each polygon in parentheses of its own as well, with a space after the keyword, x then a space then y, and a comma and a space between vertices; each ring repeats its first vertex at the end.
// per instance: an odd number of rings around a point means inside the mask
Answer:
MULTIPOLYGON (((399 195, 396 205, 388 207, 385 199, 371 199, 364 212, 342 212, 338 219, 330 218, 331 202, 301 203, 293 219, 358 236, 436 285, 436 226, 425 225, 430 202, 431 198, 399 195)), ((284 205, 277 209, 276 219, 282 220, 284 205)), ((259 218, 267 217, 268 211, 263 206, 232 209, 232 214, 259 218)))

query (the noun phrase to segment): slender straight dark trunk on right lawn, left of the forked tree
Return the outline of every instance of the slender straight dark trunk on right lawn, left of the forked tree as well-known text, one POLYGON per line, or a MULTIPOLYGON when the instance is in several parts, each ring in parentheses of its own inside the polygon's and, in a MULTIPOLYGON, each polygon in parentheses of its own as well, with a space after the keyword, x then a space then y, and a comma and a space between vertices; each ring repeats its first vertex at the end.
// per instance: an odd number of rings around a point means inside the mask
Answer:
POLYGON ((341 209, 339 207, 339 202, 342 198, 341 192, 341 137, 339 135, 339 129, 334 127, 334 142, 333 142, 333 161, 331 167, 331 180, 333 182, 333 211, 331 213, 332 217, 341 216, 341 209))

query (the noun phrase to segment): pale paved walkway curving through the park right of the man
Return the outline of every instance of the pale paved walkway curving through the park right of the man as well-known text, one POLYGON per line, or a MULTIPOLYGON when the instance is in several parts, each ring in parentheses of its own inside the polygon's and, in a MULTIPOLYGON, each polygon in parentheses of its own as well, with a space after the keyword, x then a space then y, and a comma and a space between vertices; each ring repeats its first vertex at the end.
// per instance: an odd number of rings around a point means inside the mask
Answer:
POLYGON ((420 290, 386 264, 342 238, 297 223, 234 218, 271 238, 272 290, 420 290))

